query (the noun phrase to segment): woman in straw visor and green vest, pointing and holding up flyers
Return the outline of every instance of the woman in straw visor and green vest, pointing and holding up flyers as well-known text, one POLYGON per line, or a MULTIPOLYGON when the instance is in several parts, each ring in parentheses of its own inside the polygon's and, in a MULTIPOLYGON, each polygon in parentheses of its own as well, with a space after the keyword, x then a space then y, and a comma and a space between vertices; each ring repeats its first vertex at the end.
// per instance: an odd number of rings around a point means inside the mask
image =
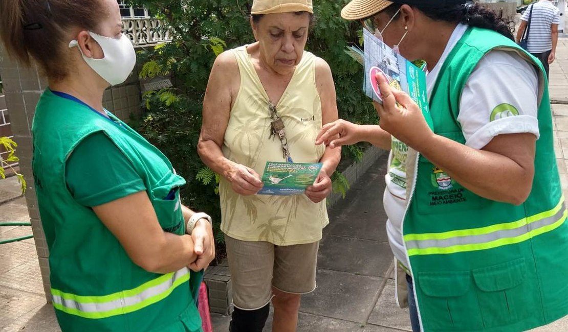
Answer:
POLYGON ((473 1, 353 0, 341 14, 427 62, 428 114, 377 76, 381 125, 339 120, 317 141, 391 150, 383 202, 412 329, 520 331, 565 316, 567 211, 542 65, 473 1))

